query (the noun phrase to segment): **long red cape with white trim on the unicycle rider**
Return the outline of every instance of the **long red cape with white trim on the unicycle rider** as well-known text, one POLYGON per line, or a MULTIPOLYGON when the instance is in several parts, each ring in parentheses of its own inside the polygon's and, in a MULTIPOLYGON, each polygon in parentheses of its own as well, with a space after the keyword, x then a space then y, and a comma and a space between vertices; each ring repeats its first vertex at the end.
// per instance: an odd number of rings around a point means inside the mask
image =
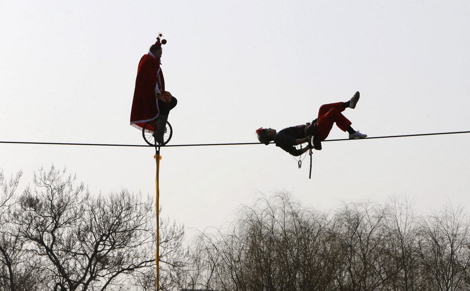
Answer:
POLYGON ((155 88, 160 78, 161 91, 165 90, 163 73, 160 62, 151 54, 141 57, 137 69, 136 87, 132 100, 131 125, 142 128, 145 122, 158 117, 158 103, 155 98, 155 88))

